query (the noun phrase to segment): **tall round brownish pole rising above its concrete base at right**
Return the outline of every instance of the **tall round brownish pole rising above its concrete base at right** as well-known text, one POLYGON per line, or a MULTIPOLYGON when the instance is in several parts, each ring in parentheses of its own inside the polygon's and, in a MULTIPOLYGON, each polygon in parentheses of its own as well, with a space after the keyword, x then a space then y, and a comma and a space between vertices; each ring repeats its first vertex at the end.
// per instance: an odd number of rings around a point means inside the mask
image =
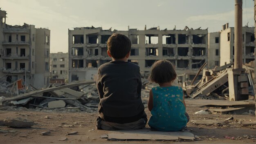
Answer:
POLYGON ((242 0, 235 0, 235 62, 234 69, 243 68, 242 0))

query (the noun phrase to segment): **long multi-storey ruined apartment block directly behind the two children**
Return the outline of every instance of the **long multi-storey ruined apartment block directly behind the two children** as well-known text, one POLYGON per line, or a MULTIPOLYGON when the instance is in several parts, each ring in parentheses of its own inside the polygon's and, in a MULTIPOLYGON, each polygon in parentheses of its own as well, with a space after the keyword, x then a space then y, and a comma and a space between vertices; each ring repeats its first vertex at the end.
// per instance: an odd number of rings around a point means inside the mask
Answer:
POLYGON ((166 59, 175 65, 177 74, 195 75, 207 61, 207 29, 103 30, 101 27, 78 27, 69 30, 69 79, 92 80, 98 67, 111 58, 107 55, 107 40, 112 33, 121 33, 132 42, 129 62, 140 66, 141 74, 147 75, 156 60, 166 59))

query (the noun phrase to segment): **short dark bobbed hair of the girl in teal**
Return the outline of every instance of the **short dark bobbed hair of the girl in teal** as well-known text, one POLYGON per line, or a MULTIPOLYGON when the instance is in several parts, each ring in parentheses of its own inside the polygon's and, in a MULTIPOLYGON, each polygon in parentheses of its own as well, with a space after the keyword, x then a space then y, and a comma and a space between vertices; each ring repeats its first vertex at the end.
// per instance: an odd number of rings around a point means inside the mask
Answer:
POLYGON ((151 67, 149 79, 152 82, 162 84, 164 82, 171 82, 175 80, 177 74, 174 70, 173 64, 168 60, 158 60, 151 67))

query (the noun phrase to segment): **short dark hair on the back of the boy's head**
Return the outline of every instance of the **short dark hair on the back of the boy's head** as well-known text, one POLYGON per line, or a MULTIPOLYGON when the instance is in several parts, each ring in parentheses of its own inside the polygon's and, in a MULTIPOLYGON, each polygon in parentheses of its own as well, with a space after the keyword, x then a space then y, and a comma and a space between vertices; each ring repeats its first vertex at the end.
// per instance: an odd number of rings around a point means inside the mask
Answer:
POLYGON ((124 58, 127 53, 131 50, 131 41, 127 36, 120 33, 113 33, 108 38, 108 51, 113 58, 121 59, 124 58))

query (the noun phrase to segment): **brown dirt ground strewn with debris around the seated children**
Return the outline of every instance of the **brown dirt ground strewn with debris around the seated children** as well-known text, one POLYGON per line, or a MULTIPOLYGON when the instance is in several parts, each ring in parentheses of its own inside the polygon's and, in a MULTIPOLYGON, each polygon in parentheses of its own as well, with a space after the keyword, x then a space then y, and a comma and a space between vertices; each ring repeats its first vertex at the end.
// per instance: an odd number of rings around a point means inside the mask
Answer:
MULTIPOLYGON (((202 110, 197 104, 197 100, 187 100, 187 112, 190 115, 190 120, 225 120, 228 117, 234 117, 234 120, 255 121, 255 115, 196 115, 196 111, 202 110)), ((150 112, 146 108, 148 119, 150 112)), ((195 125, 192 122, 188 123, 188 130, 194 135, 197 135, 201 140, 195 141, 108 141, 100 138, 103 134, 108 134, 108 131, 95 130, 97 113, 86 112, 63 112, 63 111, 0 111, 0 120, 6 117, 22 117, 29 120, 34 120, 36 123, 31 128, 10 128, 0 126, 0 130, 15 130, 16 132, 0 133, 0 144, 63 144, 63 143, 93 143, 93 144, 119 144, 119 143, 256 143, 256 125, 254 126, 206 126, 195 125), (46 119, 48 116, 49 119, 46 119), (71 127, 66 127, 71 126, 71 127), (50 131, 49 135, 40 135, 43 131, 50 131), (66 135, 67 133, 77 131, 75 135, 66 135), (226 139, 225 136, 235 137, 235 140, 226 139), (243 137, 248 135, 249 138, 243 137), (250 137, 251 135, 251 137, 250 137), (254 138, 252 138, 254 136, 254 138), (239 138, 240 137, 240 138, 239 138), (65 141, 60 141, 62 138, 67 138, 65 141), (239 138, 239 139, 237 139, 239 138)), ((148 127, 148 125, 147 125, 148 127)))

